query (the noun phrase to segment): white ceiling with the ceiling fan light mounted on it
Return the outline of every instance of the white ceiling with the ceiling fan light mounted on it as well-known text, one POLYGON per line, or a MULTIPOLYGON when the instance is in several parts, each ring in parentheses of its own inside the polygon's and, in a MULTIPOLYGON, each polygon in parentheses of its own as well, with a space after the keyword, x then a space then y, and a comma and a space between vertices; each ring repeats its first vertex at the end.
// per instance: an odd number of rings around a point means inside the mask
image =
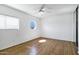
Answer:
POLYGON ((35 17, 46 17, 48 15, 57 15, 74 12, 76 4, 7 4, 10 7, 26 12, 35 17), (39 12, 44 5, 44 12, 39 12))

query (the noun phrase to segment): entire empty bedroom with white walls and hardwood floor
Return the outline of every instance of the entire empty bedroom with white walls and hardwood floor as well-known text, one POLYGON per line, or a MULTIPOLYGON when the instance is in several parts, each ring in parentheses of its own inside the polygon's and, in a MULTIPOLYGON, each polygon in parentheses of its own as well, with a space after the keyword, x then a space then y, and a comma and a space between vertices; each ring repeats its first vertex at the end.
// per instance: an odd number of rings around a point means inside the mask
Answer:
POLYGON ((77 55, 77 4, 0 4, 0 55, 77 55))

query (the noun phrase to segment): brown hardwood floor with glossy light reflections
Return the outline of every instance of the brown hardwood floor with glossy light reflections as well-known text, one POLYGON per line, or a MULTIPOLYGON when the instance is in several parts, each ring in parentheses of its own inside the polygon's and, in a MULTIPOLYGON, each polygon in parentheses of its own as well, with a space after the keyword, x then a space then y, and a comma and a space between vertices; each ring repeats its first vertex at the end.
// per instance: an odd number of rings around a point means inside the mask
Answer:
POLYGON ((4 49, 0 55, 76 55, 76 46, 73 42, 56 39, 37 38, 23 44, 4 49), (39 43, 39 40, 46 42, 39 43))

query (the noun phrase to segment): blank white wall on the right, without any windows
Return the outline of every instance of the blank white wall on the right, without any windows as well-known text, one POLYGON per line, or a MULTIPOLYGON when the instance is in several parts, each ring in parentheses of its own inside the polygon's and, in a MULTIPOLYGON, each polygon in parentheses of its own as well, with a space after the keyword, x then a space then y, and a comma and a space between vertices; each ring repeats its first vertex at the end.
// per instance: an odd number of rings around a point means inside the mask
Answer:
POLYGON ((51 15, 41 19, 42 37, 74 41, 73 39, 73 13, 51 15))

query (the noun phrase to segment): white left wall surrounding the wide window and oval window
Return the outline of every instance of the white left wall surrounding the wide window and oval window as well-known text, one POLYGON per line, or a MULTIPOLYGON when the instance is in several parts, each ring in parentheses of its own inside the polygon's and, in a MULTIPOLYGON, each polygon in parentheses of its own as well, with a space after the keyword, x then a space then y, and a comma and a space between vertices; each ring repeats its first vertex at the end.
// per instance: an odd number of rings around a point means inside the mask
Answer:
POLYGON ((8 48, 32 39, 39 37, 39 25, 36 30, 30 29, 29 23, 31 20, 36 20, 39 24, 38 18, 31 15, 24 14, 16 9, 0 5, 0 14, 14 16, 20 19, 19 30, 1 30, 0 29, 0 50, 8 48))

